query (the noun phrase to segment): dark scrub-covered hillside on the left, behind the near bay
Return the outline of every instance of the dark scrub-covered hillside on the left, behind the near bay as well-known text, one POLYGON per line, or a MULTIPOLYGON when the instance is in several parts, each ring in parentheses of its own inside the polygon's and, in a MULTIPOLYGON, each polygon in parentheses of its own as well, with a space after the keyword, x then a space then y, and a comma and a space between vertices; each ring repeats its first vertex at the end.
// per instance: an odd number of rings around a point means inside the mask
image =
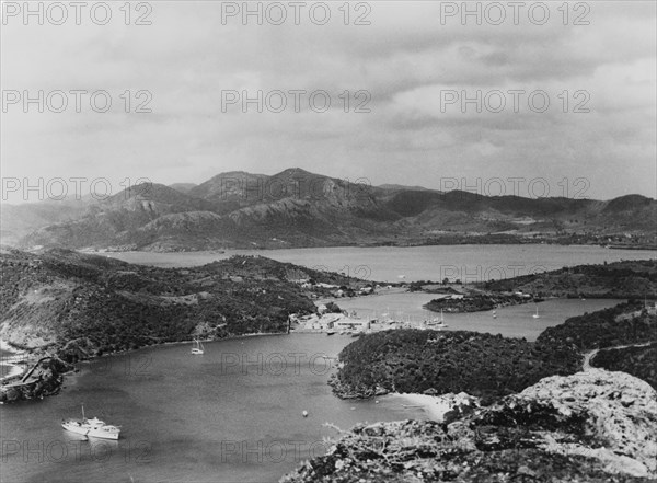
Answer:
POLYGON ((283 332, 290 313, 315 310, 290 280, 350 281, 261 257, 174 269, 58 249, 3 249, 0 267, 0 336, 65 359, 78 348, 95 355, 194 336, 283 332))

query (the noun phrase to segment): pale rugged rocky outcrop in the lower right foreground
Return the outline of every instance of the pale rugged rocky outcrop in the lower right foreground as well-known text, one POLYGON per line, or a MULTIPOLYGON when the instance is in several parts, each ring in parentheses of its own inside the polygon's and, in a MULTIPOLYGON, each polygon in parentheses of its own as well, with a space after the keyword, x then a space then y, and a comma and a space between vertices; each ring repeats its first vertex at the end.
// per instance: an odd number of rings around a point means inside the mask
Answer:
POLYGON ((657 392, 592 369, 456 418, 358 425, 281 483, 657 481, 657 392))

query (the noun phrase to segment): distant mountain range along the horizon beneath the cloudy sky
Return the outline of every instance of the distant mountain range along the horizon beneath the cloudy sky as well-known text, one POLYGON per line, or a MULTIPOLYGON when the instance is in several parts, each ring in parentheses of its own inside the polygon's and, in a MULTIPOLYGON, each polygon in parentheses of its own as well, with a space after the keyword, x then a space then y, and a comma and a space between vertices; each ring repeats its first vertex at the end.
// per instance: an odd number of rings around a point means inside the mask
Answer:
POLYGON ((372 186, 301 169, 148 183, 103 200, 4 205, 2 243, 30 249, 193 251, 565 242, 654 245, 657 202, 483 196, 372 186))

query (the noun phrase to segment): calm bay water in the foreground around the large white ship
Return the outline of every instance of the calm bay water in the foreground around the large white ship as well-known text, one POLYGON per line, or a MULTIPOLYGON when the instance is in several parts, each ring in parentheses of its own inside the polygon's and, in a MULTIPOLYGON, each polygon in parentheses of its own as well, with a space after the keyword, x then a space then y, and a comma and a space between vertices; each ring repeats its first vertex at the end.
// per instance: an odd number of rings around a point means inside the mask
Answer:
POLYGON ((362 421, 422 418, 399 401, 341 401, 326 384, 350 337, 245 337, 148 348, 82 365, 60 395, 0 406, 2 482, 274 482, 323 438, 362 421), (81 441, 59 426, 87 415, 123 426, 81 441), (302 417, 307 410, 309 416, 302 417), (132 480, 131 480, 132 479, 132 480))

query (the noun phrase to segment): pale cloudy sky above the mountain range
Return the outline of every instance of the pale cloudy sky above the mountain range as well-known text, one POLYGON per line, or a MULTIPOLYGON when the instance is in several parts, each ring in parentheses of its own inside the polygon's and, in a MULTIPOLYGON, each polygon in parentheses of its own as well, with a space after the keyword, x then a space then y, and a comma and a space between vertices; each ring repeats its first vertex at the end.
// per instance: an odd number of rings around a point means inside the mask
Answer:
POLYGON ((262 25, 242 2, 132 3, 129 19, 123 3, 105 23, 88 2, 80 25, 68 2, 45 3, 43 25, 3 3, 4 183, 104 177, 117 192, 126 179, 299 166, 484 194, 541 196, 543 179, 553 196, 655 197, 654 1, 471 3, 481 25, 461 2, 249 3, 262 25), (39 91, 43 113, 24 103, 39 91), (262 112, 242 104, 258 91, 262 112))

